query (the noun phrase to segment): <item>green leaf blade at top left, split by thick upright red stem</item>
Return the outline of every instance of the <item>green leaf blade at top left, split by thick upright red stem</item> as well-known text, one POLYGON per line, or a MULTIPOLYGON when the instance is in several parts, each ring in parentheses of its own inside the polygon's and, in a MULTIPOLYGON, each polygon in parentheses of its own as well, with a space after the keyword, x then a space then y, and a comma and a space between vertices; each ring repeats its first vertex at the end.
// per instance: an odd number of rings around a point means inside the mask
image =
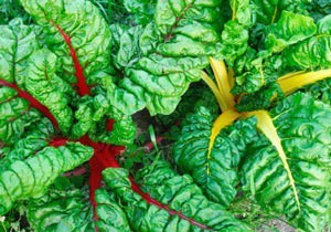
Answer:
POLYGON ((109 68, 110 30, 98 9, 85 0, 21 0, 46 33, 46 44, 60 60, 61 77, 76 83, 73 54, 61 30, 70 38, 87 83, 96 83, 109 68))

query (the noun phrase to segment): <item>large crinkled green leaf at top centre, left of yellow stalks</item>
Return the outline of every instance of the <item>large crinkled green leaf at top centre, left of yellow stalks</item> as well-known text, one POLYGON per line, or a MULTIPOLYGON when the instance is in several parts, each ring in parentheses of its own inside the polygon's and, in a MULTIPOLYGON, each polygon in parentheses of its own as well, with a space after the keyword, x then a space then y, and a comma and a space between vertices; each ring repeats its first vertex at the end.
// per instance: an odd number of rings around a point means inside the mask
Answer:
POLYGON ((105 82, 111 105, 125 114, 147 107, 170 114, 191 82, 200 80, 220 40, 218 1, 158 1, 154 20, 145 28, 113 27, 118 50, 115 65, 124 77, 105 82))

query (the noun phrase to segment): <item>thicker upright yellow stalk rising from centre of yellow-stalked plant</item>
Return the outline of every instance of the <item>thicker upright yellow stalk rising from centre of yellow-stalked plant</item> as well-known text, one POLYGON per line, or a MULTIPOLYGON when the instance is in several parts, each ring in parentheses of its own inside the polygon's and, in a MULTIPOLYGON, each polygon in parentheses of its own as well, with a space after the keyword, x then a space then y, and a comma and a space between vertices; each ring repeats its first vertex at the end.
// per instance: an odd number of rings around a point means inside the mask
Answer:
POLYGON ((225 112, 228 108, 233 108, 235 105, 234 96, 231 93, 229 80, 227 76, 227 70, 224 61, 217 61, 215 59, 210 57, 210 63, 213 68, 216 83, 218 85, 221 97, 223 98, 222 112, 225 112))

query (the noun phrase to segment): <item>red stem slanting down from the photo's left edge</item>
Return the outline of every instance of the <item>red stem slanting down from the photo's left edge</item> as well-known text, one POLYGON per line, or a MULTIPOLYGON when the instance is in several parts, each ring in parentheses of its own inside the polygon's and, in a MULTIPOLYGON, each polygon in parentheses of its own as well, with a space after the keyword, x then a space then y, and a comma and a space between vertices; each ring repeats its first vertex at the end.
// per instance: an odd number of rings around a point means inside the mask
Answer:
POLYGON ((38 110, 43 113, 43 115, 46 116, 52 122, 53 126, 56 129, 58 129, 58 123, 57 123, 56 118, 51 114, 50 109, 46 106, 41 104, 38 99, 35 99, 33 96, 31 96, 26 92, 19 88, 19 86, 17 86, 15 84, 0 80, 0 85, 15 89, 20 97, 26 99, 33 108, 36 108, 38 110))

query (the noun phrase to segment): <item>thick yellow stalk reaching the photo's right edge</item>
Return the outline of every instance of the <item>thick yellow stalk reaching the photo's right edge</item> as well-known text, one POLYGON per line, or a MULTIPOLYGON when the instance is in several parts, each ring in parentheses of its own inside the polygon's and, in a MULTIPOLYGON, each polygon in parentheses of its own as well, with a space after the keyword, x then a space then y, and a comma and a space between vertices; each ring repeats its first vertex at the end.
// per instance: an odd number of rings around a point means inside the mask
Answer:
POLYGON ((287 74, 277 80, 282 92, 288 95, 300 87, 309 84, 313 84, 318 81, 331 77, 331 68, 321 70, 316 72, 297 72, 292 74, 287 74))

